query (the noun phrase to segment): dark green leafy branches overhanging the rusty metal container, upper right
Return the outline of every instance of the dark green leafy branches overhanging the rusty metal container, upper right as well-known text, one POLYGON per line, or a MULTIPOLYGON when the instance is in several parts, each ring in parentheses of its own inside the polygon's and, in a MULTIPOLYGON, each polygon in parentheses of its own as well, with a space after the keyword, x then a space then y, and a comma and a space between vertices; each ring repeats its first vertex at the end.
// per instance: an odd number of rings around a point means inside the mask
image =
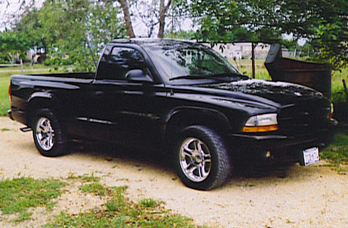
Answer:
POLYGON ((200 40, 278 42, 283 34, 307 38, 334 68, 348 63, 346 0, 193 0, 200 40))

